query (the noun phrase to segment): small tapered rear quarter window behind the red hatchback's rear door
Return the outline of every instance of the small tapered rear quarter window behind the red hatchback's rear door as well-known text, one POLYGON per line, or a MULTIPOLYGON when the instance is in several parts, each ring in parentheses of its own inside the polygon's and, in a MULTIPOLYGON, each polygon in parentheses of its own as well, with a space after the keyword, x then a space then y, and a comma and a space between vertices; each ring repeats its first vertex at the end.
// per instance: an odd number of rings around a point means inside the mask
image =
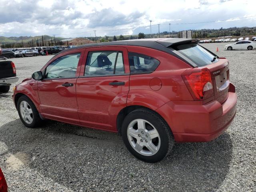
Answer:
POLYGON ((144 54, 129 52, 128 57, 131 74, 153 72, 160 64, 157 59, 144 54))

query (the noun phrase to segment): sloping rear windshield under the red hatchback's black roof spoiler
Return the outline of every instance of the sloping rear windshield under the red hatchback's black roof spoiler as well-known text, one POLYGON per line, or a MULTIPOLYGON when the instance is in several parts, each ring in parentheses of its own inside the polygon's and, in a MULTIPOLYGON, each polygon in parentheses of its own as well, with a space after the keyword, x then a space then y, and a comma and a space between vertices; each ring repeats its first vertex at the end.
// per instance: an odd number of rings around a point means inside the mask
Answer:
POLYGON ((196 43, 181 44, 172 47, 182 55, 186 56, 198 67, 218 62, 218 58, 196 43))

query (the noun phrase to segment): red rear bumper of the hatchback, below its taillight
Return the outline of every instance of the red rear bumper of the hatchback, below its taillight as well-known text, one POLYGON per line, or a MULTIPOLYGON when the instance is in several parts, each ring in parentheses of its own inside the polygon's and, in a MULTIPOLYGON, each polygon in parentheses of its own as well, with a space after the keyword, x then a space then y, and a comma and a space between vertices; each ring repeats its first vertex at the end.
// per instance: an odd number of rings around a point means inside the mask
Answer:
POLYGON ((207 142, 230 126, 236 114, 236 102, 236 93, 228 92, 223 104, 216 100, 205 105, 168 102, 156 111, 169 124, 176 142, 207 142))

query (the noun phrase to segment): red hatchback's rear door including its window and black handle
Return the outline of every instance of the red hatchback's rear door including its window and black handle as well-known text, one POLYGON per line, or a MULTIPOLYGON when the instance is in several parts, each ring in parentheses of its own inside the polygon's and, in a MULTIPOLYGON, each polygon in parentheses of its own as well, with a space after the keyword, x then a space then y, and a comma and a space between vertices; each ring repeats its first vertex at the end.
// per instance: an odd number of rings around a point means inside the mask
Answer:
POLYGON ((116 130, 116 116, 126 106, 129 64, 126 48, 88 48, 76 82, 80 124, 116 130))

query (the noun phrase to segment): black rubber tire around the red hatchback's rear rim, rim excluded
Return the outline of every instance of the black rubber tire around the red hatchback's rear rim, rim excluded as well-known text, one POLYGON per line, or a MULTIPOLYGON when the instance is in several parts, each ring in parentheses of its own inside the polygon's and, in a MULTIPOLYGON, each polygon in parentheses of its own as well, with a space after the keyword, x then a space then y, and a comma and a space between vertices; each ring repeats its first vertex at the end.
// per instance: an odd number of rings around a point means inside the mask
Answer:
POLYGON ((122 138, 124 144, 133 156, 149 163, 158 162, 165 158, 170 153, 174 145, 174 136, 170 130, 170 127, 158 114, 145 108, 134 110, 124 118, 124 121, 122 123, 122 138), (156 130, 158 131, 161 142, 160 148, 156 152, 156 154, 153 154, 151 156, 142 155, 136 152, 136 150, 134 150, 133 146, 130 144, 127 136, 127 129, 129 124, 136 119, 143 119, 150 122, 150 124, 152 124, 154 128, 156 128, 156 130))

